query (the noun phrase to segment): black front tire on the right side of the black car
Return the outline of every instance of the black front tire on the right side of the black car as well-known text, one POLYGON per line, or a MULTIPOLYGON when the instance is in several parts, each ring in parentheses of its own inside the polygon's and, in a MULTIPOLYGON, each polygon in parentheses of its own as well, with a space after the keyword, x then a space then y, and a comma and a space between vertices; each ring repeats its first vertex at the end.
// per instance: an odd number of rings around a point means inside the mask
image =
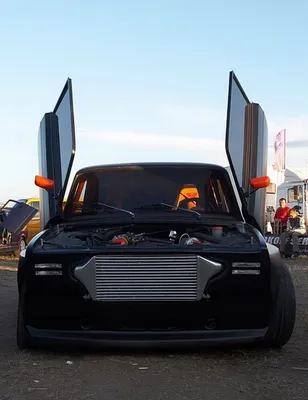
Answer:
POLYGON ((270 317, 265 342, 272 348, 281 348, 290 340, 296 320, 296 296, 292 277, 282 263, 279 270, 278 292, 270 317))

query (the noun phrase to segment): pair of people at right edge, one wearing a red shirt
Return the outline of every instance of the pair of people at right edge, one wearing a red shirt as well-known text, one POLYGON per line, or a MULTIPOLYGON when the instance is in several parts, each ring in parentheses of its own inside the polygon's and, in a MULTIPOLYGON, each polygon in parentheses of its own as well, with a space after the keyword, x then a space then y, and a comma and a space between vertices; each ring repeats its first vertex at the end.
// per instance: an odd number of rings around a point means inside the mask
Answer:
POLYGON ((285 255, 286 243, 289 237, 292 238, 293 243, 293 256, 299 255, 299 236, 306 233, 306 226, 304 218, 299 214, 297 207, 287 206, 285 198, 279 200, 280 207, 277 208, 275 213, 275 221, 280 221, 282 232, 280 235, 280 253, 285 255))

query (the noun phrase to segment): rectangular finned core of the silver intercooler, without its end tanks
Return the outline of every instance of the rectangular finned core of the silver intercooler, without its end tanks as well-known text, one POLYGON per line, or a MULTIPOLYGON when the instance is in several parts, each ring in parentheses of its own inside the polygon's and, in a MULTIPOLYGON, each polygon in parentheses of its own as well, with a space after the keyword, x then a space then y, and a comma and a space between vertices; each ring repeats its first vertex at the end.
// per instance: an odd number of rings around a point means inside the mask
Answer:
POLYGON ((195 255, 98 256, 96 296, 101 301, 197 299, 195 255))

